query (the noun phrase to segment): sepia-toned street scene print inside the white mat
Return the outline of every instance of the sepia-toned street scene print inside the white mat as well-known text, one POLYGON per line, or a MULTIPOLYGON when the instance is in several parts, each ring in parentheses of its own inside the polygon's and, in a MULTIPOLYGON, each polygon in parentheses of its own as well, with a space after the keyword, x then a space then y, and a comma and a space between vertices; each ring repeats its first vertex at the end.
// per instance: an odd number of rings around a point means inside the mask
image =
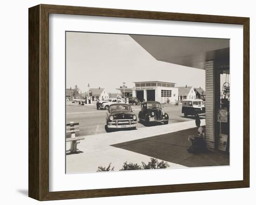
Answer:
POLYGON ((65 89, 66 173, 229 166, 229 39, 67 31, 65 89))

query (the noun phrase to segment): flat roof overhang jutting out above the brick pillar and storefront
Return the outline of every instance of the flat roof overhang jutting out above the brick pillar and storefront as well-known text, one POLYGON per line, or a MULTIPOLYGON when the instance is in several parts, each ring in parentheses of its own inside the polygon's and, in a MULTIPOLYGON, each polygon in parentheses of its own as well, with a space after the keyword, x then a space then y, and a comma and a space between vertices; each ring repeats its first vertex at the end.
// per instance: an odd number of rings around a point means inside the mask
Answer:
POLYGON ((130 35, 156 60, 205 69, 205 62, 216 60, 229 65, 229 39, 152 35, 130 35))

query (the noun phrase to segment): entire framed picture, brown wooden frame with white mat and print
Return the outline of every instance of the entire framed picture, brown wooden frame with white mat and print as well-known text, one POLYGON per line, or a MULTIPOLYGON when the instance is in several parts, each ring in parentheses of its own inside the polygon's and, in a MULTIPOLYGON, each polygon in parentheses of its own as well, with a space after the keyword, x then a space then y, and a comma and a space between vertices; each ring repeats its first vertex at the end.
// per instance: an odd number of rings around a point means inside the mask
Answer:
POLYGON ((249 187, 249 18, 29 8, 29 197, 249 187))

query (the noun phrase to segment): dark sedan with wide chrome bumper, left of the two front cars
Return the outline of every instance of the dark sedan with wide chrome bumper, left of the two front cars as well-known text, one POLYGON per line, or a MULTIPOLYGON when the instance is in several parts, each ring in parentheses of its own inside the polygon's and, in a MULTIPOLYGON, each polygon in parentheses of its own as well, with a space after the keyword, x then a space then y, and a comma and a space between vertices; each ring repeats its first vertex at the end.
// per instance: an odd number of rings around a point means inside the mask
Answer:
POLYGON ((128 104, 116 103, 109 105, 106 117, 106 131, 111 129, 136 129, 137 116, 128 104))

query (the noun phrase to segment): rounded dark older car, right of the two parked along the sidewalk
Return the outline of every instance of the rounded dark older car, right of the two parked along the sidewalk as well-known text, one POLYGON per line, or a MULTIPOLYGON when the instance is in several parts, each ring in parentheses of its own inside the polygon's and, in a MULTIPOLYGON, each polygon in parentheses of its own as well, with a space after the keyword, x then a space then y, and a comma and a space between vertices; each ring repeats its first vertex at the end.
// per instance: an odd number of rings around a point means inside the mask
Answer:
POLYGON ((146 101, 141 102, 141 111, 139 112, 140 122, 144 122, 146 126, 154 122, 168 124, 169 116, 162 111, 160 102, 146 101))

